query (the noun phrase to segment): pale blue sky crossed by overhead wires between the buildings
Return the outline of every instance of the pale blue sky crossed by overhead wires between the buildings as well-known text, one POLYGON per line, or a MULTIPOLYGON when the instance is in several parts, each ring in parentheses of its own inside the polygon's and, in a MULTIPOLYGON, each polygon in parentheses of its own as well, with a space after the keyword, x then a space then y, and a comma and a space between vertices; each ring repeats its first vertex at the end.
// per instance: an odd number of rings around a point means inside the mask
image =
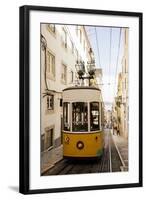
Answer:
POLYGON ((118 27, 86 26, 85 28, 95 55, 96 67, 102 68, 105 108, 111 109, 110 105, 117 92, 118 73, 122 67, 123 31, 118 27))

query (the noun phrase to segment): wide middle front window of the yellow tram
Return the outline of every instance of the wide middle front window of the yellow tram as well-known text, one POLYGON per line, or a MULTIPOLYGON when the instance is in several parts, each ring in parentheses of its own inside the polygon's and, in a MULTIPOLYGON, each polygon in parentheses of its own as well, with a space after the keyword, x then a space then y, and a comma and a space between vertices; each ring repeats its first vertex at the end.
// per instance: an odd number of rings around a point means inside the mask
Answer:
POLYGON ((72 131, 88 131, 88 108, 85 102, 72 103, 72 131))

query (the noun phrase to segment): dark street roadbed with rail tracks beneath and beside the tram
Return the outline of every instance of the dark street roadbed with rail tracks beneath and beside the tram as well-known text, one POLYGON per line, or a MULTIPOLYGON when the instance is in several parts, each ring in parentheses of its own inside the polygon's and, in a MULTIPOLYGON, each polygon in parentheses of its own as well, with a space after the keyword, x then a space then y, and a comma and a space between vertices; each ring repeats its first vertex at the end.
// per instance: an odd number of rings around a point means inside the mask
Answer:
POLYGON ((88 174, 120 172, 124 162, 110 130, 105 130, 104 154, 98 160, 66 160, 62 159, 53 168, 42 175, 88 174))

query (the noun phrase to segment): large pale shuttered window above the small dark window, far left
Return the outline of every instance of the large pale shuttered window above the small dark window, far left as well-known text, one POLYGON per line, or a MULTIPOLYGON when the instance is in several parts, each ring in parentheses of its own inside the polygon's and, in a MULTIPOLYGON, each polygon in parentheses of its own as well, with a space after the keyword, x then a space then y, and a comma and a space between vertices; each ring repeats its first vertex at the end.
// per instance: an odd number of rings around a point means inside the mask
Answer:
POLYGON ((50 78, 55 78, 55 56, 47 52, 47 73, 50 78))

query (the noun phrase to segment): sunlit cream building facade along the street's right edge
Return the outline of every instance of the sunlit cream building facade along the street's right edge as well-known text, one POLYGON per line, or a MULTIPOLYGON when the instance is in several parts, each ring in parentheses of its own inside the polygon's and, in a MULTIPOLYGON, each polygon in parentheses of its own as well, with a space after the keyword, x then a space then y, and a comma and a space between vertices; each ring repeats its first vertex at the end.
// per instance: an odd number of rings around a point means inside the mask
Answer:
POLYGON ((118 75, 118 87, 117 96, 115 98, 115 104, 113 113, 117 128, 120 135, 128 138, 128 127, 129 127, 129 84, 128 84, 128 69, 129 69, 129 54, 128 54, 128 28, 123 28, 124 34, 124 51, 122 59, 122 71, 118 75))

